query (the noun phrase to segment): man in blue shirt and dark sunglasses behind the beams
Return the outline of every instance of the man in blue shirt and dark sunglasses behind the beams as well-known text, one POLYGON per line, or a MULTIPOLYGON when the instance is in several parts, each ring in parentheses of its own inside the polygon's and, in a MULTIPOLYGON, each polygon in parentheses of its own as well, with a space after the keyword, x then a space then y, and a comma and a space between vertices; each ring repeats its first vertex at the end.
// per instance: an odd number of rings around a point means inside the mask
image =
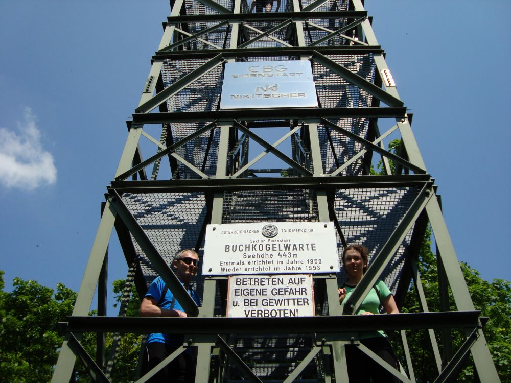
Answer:
MULTIPOLYGON (((187 289, 193 300, 200 306, 200 300, 190 287, 190 281, 197 274, 199 256, 190 249, 177 253, 172 265, 181 284, 187 289)), ((140 315, 144 317, 187 317, 187 313, 165 285, 157 277, 149 286, 140 305, 140 315)), ((147 337, 146 349, 142 360, 142 374, 158 365, 179 347, 183 346, 184 336, 180 334, 152 333, 147 337)), ((192 349, 187 349, 174 358, 149 381, 152 382, 193 382, 195 380, 196 358, 192 349)))

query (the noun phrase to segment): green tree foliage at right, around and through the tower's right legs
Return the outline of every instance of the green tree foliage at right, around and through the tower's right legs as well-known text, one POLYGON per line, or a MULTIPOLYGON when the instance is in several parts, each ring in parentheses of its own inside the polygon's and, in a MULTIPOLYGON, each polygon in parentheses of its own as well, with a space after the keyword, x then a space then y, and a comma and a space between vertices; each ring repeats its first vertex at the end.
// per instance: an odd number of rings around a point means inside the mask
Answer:
MULTIPOLYGON (((438 268, 436 255, 431 251, 430 229, 425 234, 418 267, 428 308, 431 312, 440 311, 438 268)), ((484 336, 501 381, 511 381, 511 336, 509 334, 509 328, 511 328, 511 282, 502 279, 494 279, 493 282, 485 281, 479 276, 477 270, 464 262, 460 262, 460 268, 467 282, 467 288, 475 309, 481 310, 482 317, 489 317, 484 327, 484 336)), ((449 304, 450 310, 456 309, 451 295, 449 304)), ((420 311, 419 300, 414 289, 412 289, 406 296, 402 312, 420 311)), ((408 331, 407 337, 417 381, 433 381, 437 373, 426 331, 408 331)), ((460 329, 456 329, 452 331, 452 337, 453 348, 456 351, 466 339, 465 334, 460 329)), ((436 339, 440 350, 442 350, 445 340, 442 339, 440 332, 436 332, 436 339)), ((473 381, 473 377, 473 365, 468 363, 457 381, 469 382, 473 381)))

